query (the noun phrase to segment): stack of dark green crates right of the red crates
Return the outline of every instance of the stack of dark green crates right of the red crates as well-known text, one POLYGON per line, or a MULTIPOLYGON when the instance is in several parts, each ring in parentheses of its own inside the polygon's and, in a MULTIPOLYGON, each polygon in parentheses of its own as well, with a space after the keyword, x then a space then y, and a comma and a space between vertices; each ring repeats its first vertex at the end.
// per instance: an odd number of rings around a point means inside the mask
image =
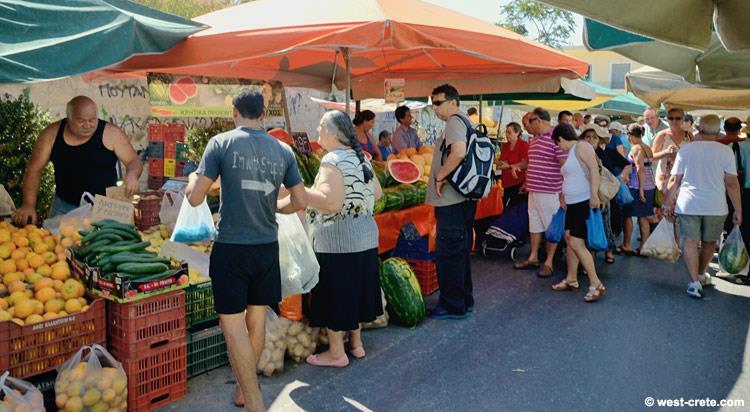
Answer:
POLYGON ((188 378, 229 364, 224 334, 214 310, 211 282, 190 285, 185 289, 187 321, 188 378))

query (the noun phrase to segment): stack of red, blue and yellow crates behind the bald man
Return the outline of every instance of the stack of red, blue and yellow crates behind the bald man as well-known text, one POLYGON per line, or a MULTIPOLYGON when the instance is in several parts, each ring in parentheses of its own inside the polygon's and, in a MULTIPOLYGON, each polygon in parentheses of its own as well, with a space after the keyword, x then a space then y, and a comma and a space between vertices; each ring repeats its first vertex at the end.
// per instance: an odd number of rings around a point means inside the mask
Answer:
POLYGON ((168 178, 182 176, 187 157, 184 125, 148 125, 149 189, 160 189, 168 178))

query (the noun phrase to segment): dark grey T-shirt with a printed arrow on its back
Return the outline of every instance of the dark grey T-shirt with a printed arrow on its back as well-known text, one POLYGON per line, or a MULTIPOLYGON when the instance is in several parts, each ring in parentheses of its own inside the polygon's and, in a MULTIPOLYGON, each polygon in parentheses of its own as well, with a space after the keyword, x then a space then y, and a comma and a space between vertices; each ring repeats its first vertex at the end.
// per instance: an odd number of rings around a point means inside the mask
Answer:
POLYGON ((239 127, 208 141, 196 173, 221 176, 217 242, 262 245, 278 240, 279 187, 302 183, 292 149, 261 130, 239 127))

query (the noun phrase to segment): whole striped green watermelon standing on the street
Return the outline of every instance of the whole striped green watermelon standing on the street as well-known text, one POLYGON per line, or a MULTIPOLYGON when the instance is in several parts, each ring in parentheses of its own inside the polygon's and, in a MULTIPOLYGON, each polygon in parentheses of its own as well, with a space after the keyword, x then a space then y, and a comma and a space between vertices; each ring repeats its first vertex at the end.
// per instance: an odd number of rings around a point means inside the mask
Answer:
POLYGON ((404 326, 414 327, 424 318, 422 289, 408 263, 401 258, 386 259, 380 266, 380 286, 388 302, 388 313, 404 326))

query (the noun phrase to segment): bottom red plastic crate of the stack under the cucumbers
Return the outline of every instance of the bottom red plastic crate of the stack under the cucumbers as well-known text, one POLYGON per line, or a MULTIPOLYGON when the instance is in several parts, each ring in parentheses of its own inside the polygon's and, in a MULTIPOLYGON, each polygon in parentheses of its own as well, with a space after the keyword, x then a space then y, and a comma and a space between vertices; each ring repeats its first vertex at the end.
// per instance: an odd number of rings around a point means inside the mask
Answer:
POLYGON ((128 377, 128 411, 152 411, 187 394, 185 337, 144 353, 138 359, 120 359, 128 377))

